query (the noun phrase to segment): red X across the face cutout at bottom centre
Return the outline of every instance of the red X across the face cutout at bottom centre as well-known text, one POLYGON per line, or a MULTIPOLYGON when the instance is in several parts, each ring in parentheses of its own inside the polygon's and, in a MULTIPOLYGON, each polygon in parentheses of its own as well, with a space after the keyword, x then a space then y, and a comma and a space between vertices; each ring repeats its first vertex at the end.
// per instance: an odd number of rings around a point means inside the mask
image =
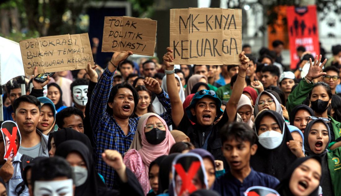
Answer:
POLYGON ((175 167, 176 173, 181 177, 181 180, 182 180, 182 186, 180 189, 180 193, 177 195, 181 196, 182 193, 186 190, 190 194, 193 193, 194 191, 196 191, 196 187, 192 183, 192 180, 193 180, 195 174, 197 173, 197 171, 199 170, 200 166, 201 166, 200 161, 193 161, 191 164, 191 167, 189 168, 188 172, 186 173, 186 171, 183 169, 183 167, 180 163, 175 164, 174 167, 175 167))

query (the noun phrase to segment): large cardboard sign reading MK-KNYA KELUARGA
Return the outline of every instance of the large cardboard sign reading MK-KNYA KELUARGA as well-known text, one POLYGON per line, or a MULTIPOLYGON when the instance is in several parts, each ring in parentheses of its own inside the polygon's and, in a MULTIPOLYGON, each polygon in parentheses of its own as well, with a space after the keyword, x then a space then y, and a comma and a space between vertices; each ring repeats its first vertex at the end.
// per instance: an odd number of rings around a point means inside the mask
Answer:
POLYGON ((171 9, 169 35, 171 64, 240 64, 240 9, 171 9))

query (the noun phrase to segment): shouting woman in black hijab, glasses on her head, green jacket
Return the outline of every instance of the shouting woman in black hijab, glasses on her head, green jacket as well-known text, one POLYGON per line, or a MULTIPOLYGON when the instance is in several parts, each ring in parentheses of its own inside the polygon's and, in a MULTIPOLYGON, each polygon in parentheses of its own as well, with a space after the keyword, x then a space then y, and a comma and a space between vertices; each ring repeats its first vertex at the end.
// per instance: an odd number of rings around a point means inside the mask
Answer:
POLYGON ((341 183, 341 142, 331 142, 326 119, 312 117, 304 132, 306 154, 321 158, 323 195, 339 195, 341 183))

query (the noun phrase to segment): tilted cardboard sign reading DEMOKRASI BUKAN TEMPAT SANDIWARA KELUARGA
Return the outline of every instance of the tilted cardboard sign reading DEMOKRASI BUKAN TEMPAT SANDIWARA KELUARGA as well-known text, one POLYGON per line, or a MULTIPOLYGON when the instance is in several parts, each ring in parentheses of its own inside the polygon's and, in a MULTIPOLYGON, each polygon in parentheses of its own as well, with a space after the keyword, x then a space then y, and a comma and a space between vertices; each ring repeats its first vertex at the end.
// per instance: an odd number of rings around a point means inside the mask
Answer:
POLYGON ((94 66, 88 33, 25 39, 19 42, 25 76, 94 66))

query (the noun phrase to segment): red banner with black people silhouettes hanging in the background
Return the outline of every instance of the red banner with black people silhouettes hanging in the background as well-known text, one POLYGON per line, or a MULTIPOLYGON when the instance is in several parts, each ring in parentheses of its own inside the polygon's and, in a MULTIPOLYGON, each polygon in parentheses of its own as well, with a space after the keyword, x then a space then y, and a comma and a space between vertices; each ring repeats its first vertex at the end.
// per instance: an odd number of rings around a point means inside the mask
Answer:
POLYGON ((296 48, 304 46, 313 56, 320 54, 316 6, 288 6, 286 18, 289 31, 291 69, 296 69, 299 62, 296 48))

